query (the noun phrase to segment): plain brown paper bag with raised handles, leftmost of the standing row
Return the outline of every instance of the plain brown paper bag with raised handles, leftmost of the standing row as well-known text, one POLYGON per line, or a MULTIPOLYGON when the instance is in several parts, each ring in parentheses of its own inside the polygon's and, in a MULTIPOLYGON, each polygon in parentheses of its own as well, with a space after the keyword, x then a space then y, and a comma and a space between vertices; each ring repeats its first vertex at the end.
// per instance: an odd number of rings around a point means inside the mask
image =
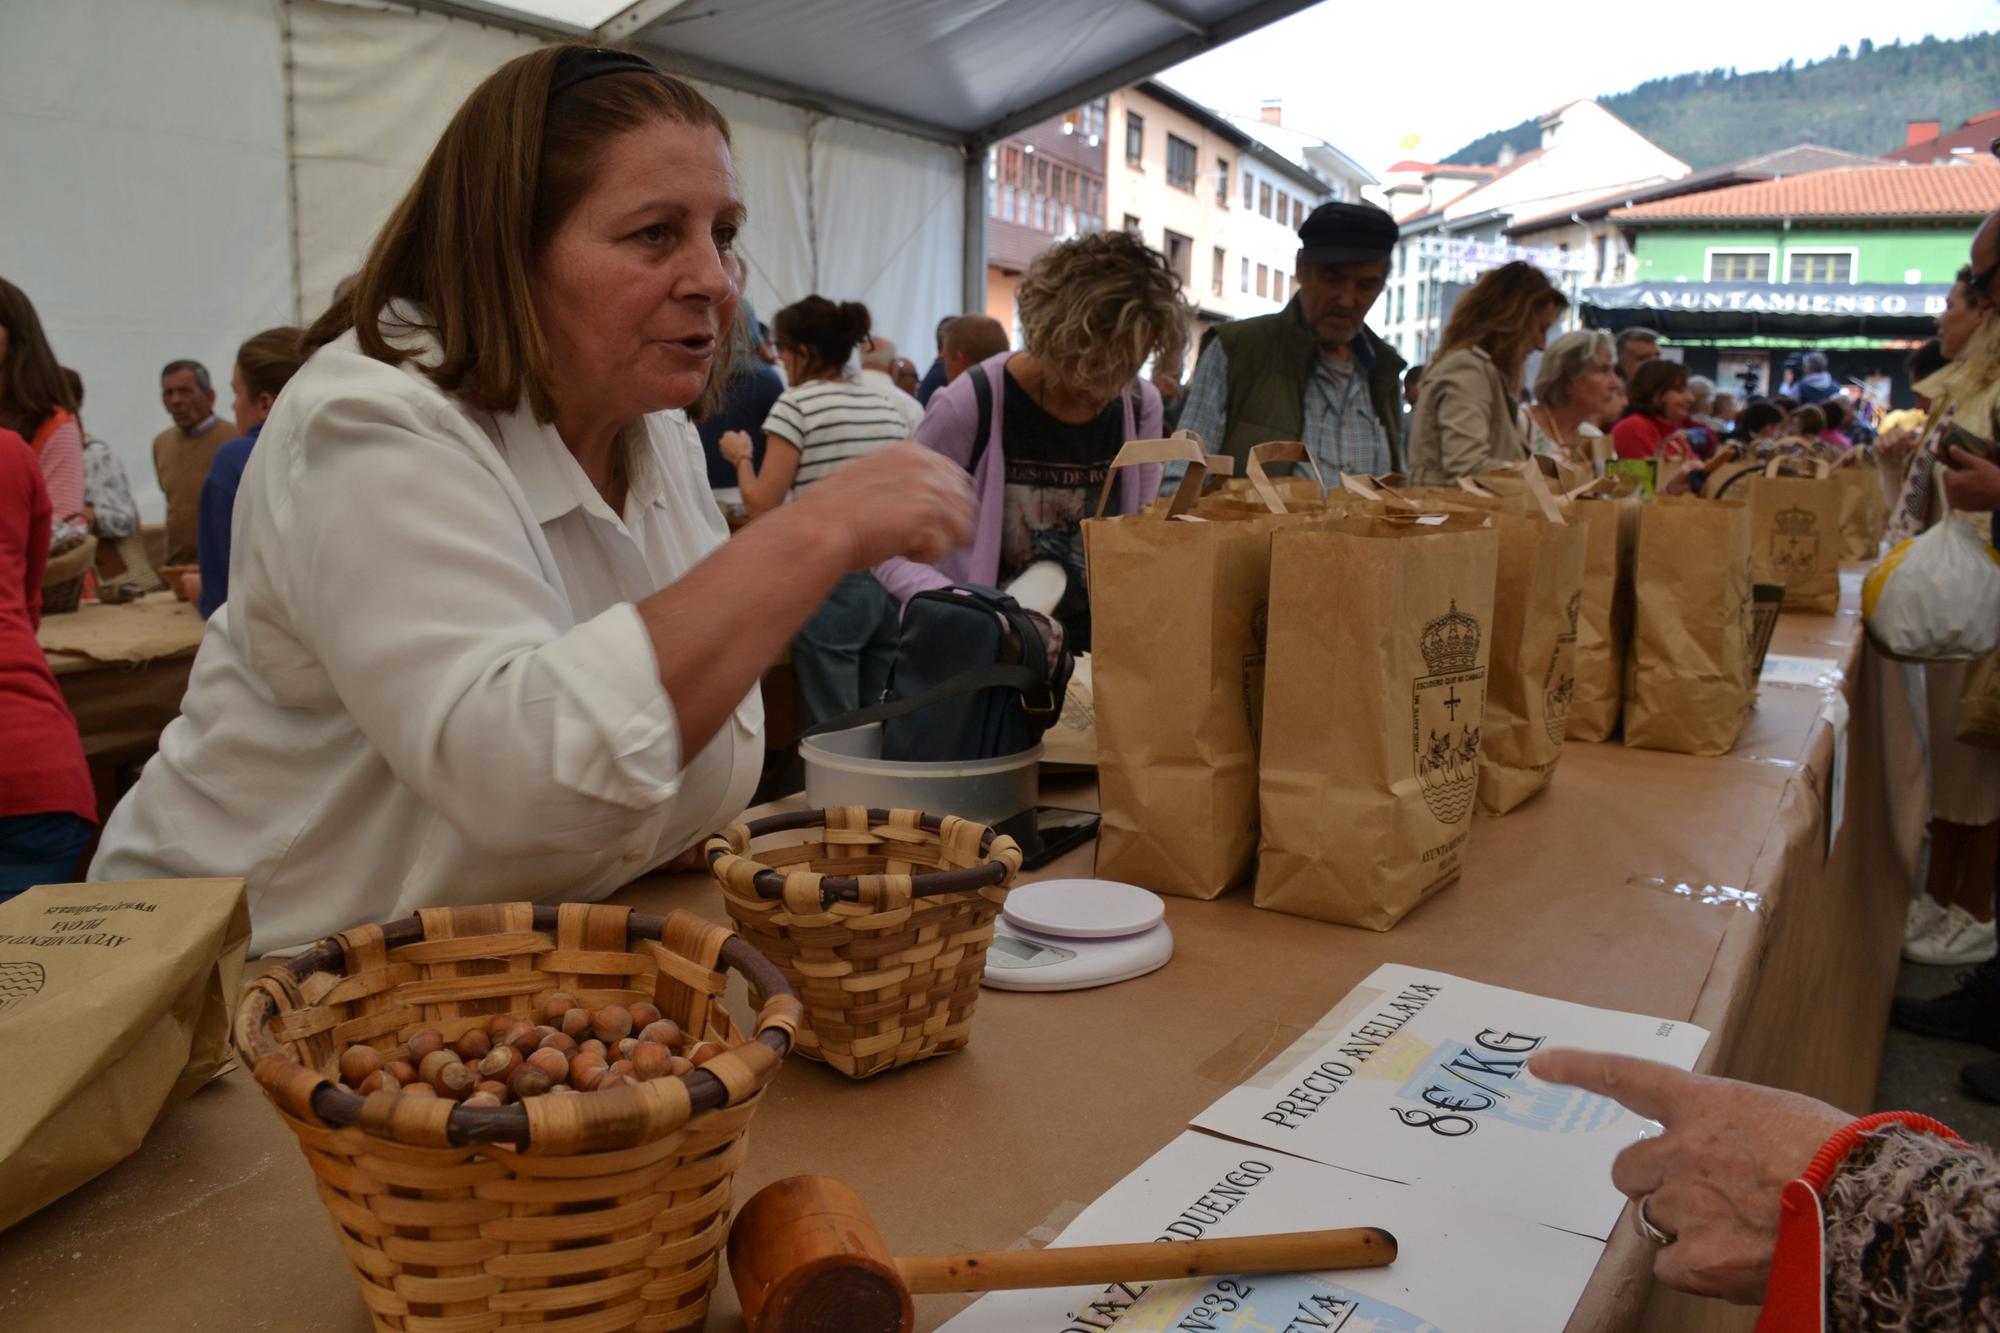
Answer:
POLYGON ((1256 857, 1274 518, 1188 512, 1204 468, 1192 440, 1134 440, 1112 466, 1164 460, 1188 462, 1174 504, 1084 524, 1104 821, 1096 873, 1214 899, 1256 857))

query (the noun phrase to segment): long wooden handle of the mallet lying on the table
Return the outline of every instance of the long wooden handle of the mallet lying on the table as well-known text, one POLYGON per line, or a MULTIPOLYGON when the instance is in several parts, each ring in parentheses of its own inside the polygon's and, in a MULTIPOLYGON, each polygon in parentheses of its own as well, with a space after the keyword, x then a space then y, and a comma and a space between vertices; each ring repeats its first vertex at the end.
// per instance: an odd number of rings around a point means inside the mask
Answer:
POLYGON ((914 1295, 934 1291, 1014 1291, 1082 1287, 1232 1273, 1318 1273, 1380 1269, 1396 1261, 1396 1237, 1380 1227, 1240 1235, 1210 1241, 1006 1249, 986 1255, 898 1259, 914 1295))

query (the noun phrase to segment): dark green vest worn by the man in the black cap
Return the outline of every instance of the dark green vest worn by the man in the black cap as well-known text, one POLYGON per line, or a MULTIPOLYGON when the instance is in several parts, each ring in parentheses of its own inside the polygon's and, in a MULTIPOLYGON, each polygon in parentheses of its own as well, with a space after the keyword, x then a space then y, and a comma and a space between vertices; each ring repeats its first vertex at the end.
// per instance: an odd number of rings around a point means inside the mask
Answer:
MULTIPOLYGON (((1294 296, 1278 314, 1232 320, 1216 330, 1230 358, 1228 428, 1220 452, 1236 460, 1242 476, 1250 448, 1268 440, 1306 438, 1306 384, 1320 340, 1306 328, 1294 296)), ((1392 470, 1402 470, 1402 356, 1366 326, 1362 340, 1374 364, 1368 368, 1368 402, 1388 438, 1392 470)), ((1208 444, 1214 448, 1214 444, 1208 444)))

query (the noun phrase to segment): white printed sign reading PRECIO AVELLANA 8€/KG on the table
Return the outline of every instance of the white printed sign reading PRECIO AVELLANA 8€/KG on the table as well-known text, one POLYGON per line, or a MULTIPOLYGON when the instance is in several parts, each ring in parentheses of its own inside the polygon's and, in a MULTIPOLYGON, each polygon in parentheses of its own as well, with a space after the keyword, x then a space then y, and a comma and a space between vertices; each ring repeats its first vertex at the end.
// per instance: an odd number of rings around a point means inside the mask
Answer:
POLYGON ((1194 1125, 1602 1241, 1624 1209, 1612 1159, 1652 1123, 1542 1083, 1528 1057, 1584 1047, 1692 1069, 1706 1041, 1674 1019, 1390 963, 1194 1125))

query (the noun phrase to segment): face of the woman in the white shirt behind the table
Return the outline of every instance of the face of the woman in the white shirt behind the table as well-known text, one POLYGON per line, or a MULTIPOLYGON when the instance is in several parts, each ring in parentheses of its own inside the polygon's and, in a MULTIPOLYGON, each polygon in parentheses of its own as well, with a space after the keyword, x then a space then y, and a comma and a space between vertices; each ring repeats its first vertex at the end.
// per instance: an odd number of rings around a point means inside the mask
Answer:
POLYGON ((606 146, 534 266, 560 412, 630 420, 700 398, 742 294, 742 212, 716 130, 656 120, 606 146))

